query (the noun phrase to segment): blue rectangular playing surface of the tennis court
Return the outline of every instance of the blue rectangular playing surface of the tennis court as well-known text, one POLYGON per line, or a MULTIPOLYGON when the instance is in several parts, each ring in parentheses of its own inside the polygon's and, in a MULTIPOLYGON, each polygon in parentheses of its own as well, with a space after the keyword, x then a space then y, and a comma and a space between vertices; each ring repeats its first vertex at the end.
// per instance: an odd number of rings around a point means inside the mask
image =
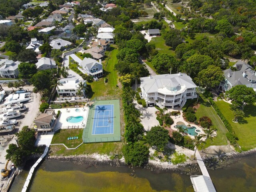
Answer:
POLYGON ((114 133, 114 105, 96 105, 92 135, 114 133))

